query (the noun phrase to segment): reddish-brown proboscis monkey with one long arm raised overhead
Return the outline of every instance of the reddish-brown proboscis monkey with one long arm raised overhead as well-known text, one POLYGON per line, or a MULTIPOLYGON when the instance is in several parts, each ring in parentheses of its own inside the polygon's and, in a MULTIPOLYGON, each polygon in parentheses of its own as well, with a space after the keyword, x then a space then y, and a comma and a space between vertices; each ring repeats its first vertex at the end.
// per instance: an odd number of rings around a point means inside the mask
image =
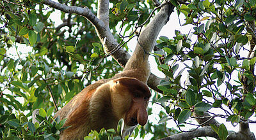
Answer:
POLYGON ((122 73, 84 88, 56 113, 54 117, 67 118, 64 127, 71 126, 61 132, 60 139, 83 139, 92 129, 116 128, 120 118, 125 123, 124 136, 130 134, 137 124, 147 123, 151 95, 145 85, 150 73, 148 53, 173 8, 171 4, 163 6, 141 32, 136 49, 122 73))

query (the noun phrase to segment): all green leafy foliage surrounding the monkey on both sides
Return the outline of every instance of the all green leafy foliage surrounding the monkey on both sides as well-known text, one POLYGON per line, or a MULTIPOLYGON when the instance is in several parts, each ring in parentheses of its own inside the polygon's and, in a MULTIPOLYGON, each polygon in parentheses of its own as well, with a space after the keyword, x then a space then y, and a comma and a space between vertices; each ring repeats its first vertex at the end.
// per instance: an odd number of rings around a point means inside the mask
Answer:
MULTIPOLYGON (((59 2, 97 13, 97 1, 59 2)), ((173 38, 159 37, 161 51, 153 54, 169 80, 157 86, 163 94, 156 93, 152 102, 161 104, 165 113, 159 113, 159 124, 148 122, 132 136, 143 138, 150 133, 152 139, 159 139, 177 134, 166 122, 173 119, 182 127, 193 113, 221 116, 233 126, 255 117, 255 1, 170 2, 178 15, 186 17, 183 25, 192 29, 176 30, 173 38), (214 113, 213 108, 224 113, 214 113)), ((111 1, 111 5, 109 27, 120 43, 127 32, 129 38, 135 36, 134 26, 143 24, 154 9, 152 1, 111 1)), ((56 10, 40 0, 4 0, 0 6, 0 136, 58 139, 64 122, 52 119, 56 111, 52 97, 62 108, 84 86, 111 78, 122 67, 106 59, 93 25, 84 17, 59 11, 63 24, 56 25, 51 17, 56 10), (24 51, 23 46, 30 50, 24 51), (36 108, 41 108, 40 123, 34 125, 31 113, 36 108)), ((129 50, 127 45, 124 48, 129 50)), ((224 124, 211 127, 220 139, 227 138, 224 124)), ((121 130, 118 125, 118 132, 92 131, 85 139, 122 139, 118 137, 121 130)))

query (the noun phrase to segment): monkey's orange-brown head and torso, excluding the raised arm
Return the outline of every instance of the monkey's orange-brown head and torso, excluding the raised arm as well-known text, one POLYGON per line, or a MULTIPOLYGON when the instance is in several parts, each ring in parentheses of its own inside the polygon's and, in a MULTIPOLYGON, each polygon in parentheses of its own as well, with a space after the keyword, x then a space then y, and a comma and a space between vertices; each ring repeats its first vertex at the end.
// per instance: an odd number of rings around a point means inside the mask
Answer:
POLYGON ((63 127, 71 126, 61 132, 60 139, 83 139, 90 130, 116 128, 121 118, 126 127, 145 125, 151 95, 147 85, 126 77, 104 82, 84 88, 56 113, 54 117, 67 118, 63 127))

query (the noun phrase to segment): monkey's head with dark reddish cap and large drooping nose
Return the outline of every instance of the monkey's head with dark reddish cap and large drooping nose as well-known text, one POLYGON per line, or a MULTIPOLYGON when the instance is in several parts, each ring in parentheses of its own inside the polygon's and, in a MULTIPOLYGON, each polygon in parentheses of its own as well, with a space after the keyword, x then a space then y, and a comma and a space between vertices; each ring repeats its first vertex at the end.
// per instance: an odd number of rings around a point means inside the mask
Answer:
POLYGON ((145 83, 135 78, 118 78, 111 86, 111 102, 118 119, 125 125, 145 125, 148 120, 147 106, 151 96, 145 83))

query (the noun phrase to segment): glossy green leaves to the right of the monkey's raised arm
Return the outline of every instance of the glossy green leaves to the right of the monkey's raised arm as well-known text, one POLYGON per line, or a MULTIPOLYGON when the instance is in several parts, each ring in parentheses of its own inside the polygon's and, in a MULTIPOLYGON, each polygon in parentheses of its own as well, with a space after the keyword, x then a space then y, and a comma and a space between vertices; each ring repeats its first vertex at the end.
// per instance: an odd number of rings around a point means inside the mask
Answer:
MULTIPOLYGON (((161 104, 179 124, 193 113, 220 115, 212 107, 221 108, 234 126, 255 115, 255 8, 244 0, 177 4, 186 17, 183 25, 193 29, 175 31, 172 39, 161 36, 157 47, 163 52, 155 53, 163 55, 159 69, 170 78, 158 86, 170 102, 161 104)), ((228 135, 224 124, 216 133, 220 139, 228 135)))

